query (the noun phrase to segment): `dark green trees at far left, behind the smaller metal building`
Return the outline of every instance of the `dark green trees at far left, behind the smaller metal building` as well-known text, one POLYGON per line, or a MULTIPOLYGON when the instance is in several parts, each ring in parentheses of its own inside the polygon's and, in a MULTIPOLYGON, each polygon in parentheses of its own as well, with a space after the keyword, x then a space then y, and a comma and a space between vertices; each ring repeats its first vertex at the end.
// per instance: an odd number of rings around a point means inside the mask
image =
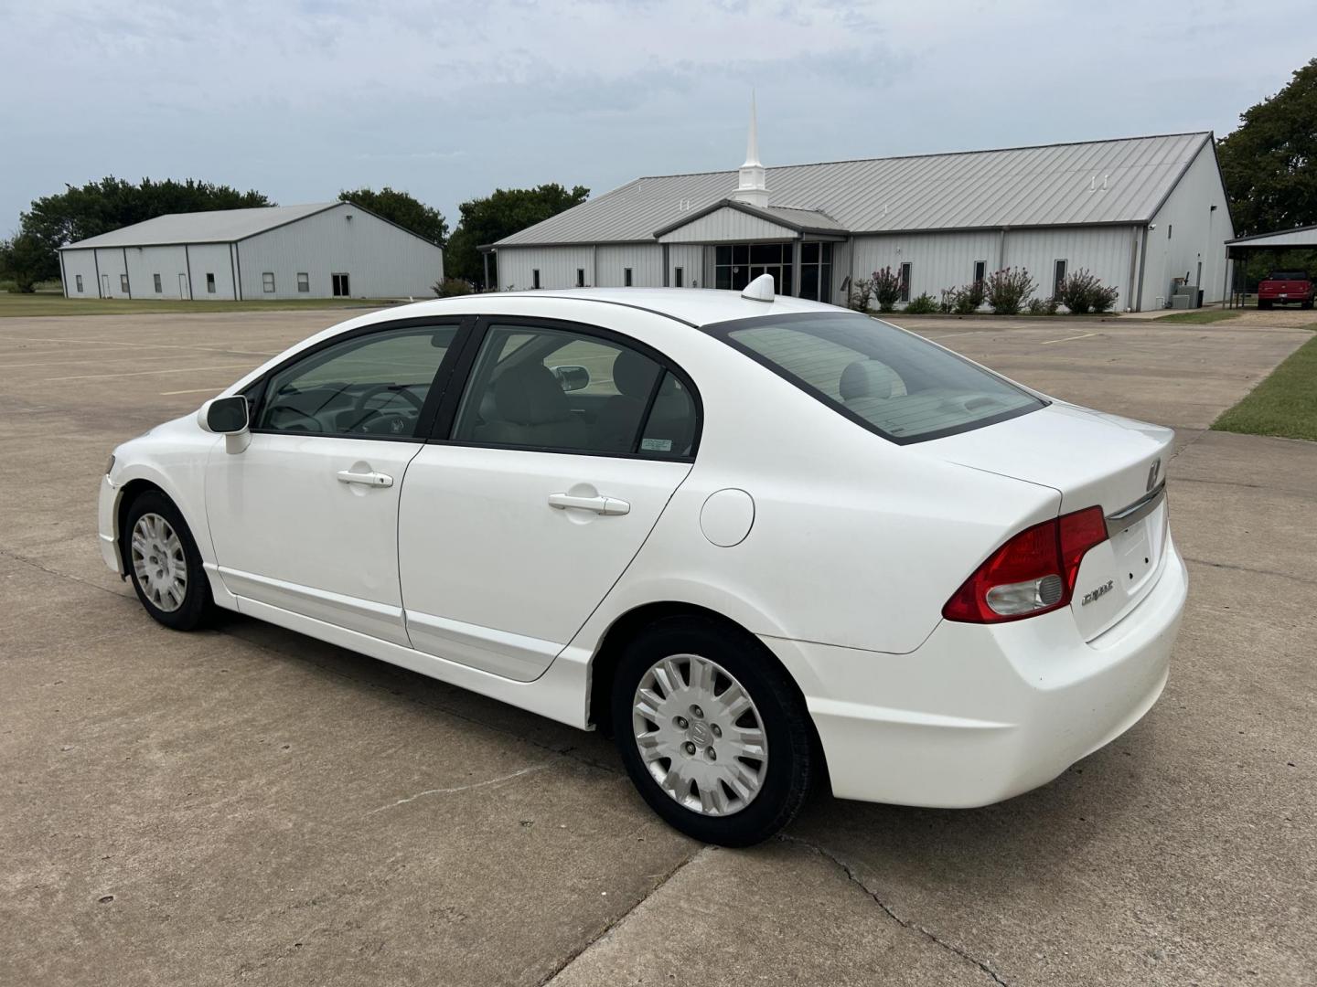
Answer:
POLYGON ((167 213, 258 205, 274 203, 261 192, 240 192, 229 186, 195 179, 154 182, 144 178, 133 184, 109 175, 82 188, 65 186, 63 192, 34 200, 32 209, 18 217, 18 236, 11 241, 11 253, 16 259, 11 263, 25 265, 24 275, 32 282, 55 279, 59 276, 58 250, 65 243, 167 213))

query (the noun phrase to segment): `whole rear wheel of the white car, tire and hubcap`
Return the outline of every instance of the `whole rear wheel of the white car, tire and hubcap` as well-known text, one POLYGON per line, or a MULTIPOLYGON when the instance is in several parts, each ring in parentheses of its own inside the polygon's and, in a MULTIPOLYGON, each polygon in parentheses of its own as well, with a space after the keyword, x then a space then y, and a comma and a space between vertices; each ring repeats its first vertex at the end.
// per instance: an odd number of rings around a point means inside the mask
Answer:
POLYGON ((665 619, 622 655, 612 725, 627 772, 670 825, 749 846, 799 811, 814 774, 809 713, 753 638, 665 619))

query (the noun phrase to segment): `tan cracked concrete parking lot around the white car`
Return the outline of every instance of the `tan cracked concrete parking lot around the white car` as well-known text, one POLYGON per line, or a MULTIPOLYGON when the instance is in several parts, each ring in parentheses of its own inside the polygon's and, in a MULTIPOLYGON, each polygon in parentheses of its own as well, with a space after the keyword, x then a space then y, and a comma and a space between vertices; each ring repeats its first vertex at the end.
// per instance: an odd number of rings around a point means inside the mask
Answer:
POLYGON ((165 630, 103 567, 109 450, 340 317, 0 320, 0 983, 1314 982, 1317 445, 1205 430, 1306 332, 911 320, 1179 429, 1169 684, 1005 804, 824 794, 731 851, 595 734, 244 617, 165 630))

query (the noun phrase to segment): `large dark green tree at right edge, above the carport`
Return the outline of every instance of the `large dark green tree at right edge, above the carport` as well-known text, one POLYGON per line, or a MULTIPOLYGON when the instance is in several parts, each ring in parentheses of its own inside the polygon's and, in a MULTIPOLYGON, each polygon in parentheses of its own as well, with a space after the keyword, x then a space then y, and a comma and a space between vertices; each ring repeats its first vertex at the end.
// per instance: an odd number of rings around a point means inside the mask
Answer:
POLYGON ((1217 143, 1237 234, 1317 224, 1317 58, 1217 143))

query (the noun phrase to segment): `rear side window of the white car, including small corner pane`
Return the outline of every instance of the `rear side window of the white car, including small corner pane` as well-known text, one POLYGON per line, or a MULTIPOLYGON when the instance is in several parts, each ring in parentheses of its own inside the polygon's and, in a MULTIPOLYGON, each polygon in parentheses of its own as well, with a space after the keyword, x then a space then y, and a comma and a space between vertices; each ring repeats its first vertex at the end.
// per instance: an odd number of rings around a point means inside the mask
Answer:
POLYGON ((695 430, 690 392, 649 357, 568 330, 493 325, 453 440, 682 458, 690 455, 695 430))

